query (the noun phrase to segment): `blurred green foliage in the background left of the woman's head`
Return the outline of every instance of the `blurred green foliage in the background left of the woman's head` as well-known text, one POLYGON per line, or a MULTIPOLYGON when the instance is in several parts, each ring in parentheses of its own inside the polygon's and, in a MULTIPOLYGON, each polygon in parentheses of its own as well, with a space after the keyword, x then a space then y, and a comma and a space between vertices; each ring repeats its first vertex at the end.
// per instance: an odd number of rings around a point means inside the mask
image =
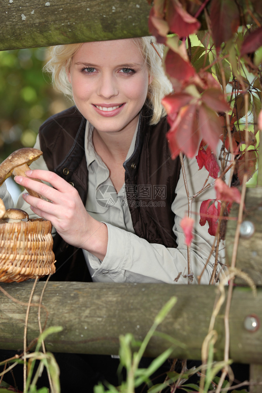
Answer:
MULTIPOLYGON (((0 162, 21 147, 33 146, 39 126, 72 105, 42 72, 47 58, 47 48, 0 51, 0 162)), ((11 178, 6 184, 13 192, 11 178)))

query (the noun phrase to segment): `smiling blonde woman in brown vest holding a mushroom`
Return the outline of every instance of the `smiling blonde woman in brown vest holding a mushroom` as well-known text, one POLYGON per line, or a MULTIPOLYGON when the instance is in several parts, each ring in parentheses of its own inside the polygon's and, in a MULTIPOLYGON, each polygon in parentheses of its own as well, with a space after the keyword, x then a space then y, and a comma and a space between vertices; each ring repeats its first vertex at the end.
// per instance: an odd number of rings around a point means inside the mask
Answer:
MULTIPOLYGON (((187 249, 180 228, 187 198, 179 159, 170 158, 161 106, 171 89, 151 39, 87 42, 51 51, 46 69, 60 91, 72 94, 76 108, 40 127, 35 147, 43 158, 27 175, 52 187, 21 176, 15 180, 53 202, 24 194, 17 207, 28 211, 30 206, 35 215, 50 220, 59 235, 54 240, 55 280, 59 274, 61 279, 83 277, 75 253, 82 249, 93 281, 187 283, 187 249), (75 250, 66 250, 68 244, 75 250), (58 250, 66 250, 67 257, 58 250), (68 261, 70 254, 75 262, 68 261)), ((198 171, 195 159, 185 158, 185 166, 193 195, 207 172, 198 171)), ((212 188, 195 198, 192 211, 198 214, 201 201, 209 198, 216 198, 212 188)), ((211 243, 197 218, 195 283, 211 243)), ((201 283, 209 282, 213 263, 212 257, 201 283)))

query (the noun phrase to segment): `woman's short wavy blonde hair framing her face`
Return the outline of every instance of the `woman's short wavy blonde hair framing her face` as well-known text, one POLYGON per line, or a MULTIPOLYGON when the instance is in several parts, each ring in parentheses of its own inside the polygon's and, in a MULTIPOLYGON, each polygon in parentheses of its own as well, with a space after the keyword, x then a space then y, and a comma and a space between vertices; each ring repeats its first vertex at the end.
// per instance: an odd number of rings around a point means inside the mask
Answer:
MULTIPOLYGON (((165 76, 159 57, 159 55, 163 56, 163 45, 157 44, 154 37, 138 37, 132 40, 147 64, 149 75, 153 78, 148 86, 146 105, 152 109, 153 113, 150 124, 156 124, 166 115, 161 99, 172 91, 172 85, 165 76)), ((67 73, 71 68, 73 56, 81 46, 82 43, 52 46, 49 49, 49 61, 44 66, 44 71, 51 73, 54 88, 69 95, 71 99, 73 99, 72 88, 67 73)))

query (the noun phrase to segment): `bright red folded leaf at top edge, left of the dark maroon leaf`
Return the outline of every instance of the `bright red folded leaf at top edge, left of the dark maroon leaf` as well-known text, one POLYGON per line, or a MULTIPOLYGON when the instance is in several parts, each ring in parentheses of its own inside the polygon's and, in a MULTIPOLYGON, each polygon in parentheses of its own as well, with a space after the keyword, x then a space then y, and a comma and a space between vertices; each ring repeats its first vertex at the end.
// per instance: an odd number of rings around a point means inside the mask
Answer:
POLYGON ((171 0, 167 8, 167 22, 172 33, 179 37, 187 37, 195 33, 201 26, 200 22, 192 17, 178 0, 171 0))

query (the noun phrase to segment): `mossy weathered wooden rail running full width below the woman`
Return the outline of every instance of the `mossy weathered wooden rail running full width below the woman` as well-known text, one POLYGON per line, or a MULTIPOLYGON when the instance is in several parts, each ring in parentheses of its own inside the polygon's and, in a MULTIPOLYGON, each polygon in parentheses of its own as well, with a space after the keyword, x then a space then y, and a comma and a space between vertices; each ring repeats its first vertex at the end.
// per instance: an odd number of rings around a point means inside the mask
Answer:
MULTIPOLYGON (((43 282, 37 283, 33 302, 38 302, 43 285, 43 282)), ((32 286, 32 282, 2 284, 11 296, 23 302, 28 301, 32 286)), ((227 293, 227 288, 225 290, 227 293)), ((218 293, 217 287, 202 285, 49 282, 42 302, 49 313, 47 327, 60 325, 63 331, 49 336, 46 347, 53 352, 117 354, 120 334, 131 332, 137 340, 142 340, 161 307, 171 296, 177 296, 176 305, 158 331, 186 344, 185 348, 175 347, 174 357, 200 359, 218 293)), ((261 304, 262 290, 258 290, 254 298, 249 288, 234 288, 229 316, 229 357, 235 362, 262 363, 261 325, 257 331, 252 331, 252 326, 247 330, 250 321, 246 320, 253 315, 262 321, 261 304)), ((224 306, 215 323, 217 360, 221 360, 224 353, 224 306)), ((37 312, 37 307, 31 307, 28 343, 39 335, 37 312)), ((0 348, 23 348, 25 313, 25 306, 0 292, 0 348)), ((42 310, 42 325, 45 318, 42 310)), ((156 356, 169 346, 168 341, 153 337, 146 355, 156 356)))

